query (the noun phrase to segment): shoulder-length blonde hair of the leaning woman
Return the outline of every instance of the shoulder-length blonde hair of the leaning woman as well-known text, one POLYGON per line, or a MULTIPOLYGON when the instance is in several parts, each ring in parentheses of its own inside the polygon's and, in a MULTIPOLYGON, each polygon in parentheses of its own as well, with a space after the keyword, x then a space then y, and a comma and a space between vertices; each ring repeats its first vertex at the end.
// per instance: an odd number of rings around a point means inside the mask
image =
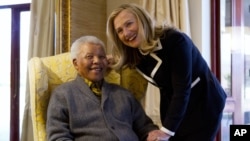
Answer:
POLYGON ((113 44, 112 54, 117 59, 117 62, 113 67, 119 69, 126 65, 134 68, 140 61, 141 57, 143 57, 140 51, 145 54, 150 53, 155 48, 157 39, 163 33, 163 30, 164 28, 162 26, 155 26, 149 13, 136 4, 122 4, 114 9, 107 21, 107 36, 113 44), (139 49, 131 48, 123 44, 114 29, 114 19, 125 9, 135 15, 139 24, 138 34, 143 38, 139 49))

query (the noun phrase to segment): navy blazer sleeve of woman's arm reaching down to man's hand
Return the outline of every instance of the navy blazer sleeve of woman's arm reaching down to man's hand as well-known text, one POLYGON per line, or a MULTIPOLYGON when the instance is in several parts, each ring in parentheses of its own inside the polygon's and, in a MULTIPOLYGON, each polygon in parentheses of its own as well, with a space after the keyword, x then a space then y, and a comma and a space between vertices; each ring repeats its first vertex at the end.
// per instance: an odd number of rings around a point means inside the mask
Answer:
POLYGON ((163 126, 175 132, 187 110, 192 83, 192 48, 190 38, 181 32, 170 32, 167 40, 166 60, 170 69, 172 98, 163 120, 163 126))

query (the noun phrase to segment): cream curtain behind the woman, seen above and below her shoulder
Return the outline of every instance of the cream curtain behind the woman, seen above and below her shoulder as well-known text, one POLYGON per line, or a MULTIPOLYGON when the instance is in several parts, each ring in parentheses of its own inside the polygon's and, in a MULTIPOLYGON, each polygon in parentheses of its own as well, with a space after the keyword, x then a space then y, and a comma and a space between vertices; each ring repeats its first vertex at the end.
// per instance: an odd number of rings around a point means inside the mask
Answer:
MULTIPOLYGON (((191 37, 188 0, 139 0, 139 4, 150 13, 158 25, 174 25, 191 37)), ((149 83, 141 103, 146 113, 161 126, 159 89, 149 83)))

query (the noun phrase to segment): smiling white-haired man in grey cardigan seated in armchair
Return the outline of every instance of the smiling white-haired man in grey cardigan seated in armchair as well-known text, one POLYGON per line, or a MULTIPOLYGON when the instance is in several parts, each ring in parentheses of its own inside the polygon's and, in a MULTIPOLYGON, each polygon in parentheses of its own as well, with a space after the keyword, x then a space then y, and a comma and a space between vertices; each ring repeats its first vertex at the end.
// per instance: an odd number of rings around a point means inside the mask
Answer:
POLYGON ((160 136, 132 93, 104 80, 108 66, 104 47, 94 36, 83 36, 72 44, 78 75, 51 95, 48 141, 139 141, 160 136))

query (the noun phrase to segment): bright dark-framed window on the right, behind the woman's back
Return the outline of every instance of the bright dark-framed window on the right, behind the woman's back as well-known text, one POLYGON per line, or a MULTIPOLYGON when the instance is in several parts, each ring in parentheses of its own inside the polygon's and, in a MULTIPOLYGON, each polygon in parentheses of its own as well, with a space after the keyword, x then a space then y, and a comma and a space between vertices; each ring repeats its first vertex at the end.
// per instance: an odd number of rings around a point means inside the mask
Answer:
POLYGON ((230 125, 250 124, 250 0, 212 1, 212 62, 228 96, 218 140, 229 141, 230 125))

